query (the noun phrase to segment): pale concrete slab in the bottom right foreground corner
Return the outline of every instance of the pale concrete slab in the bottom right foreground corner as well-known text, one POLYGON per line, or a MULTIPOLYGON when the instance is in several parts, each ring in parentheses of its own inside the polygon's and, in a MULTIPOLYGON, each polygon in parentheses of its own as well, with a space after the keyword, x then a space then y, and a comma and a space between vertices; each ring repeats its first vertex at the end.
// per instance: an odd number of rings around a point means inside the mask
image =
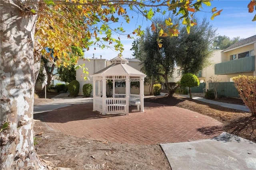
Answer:
POLYGON ((222 133, 213 139, 160 144, 172 170, 255 170, 256 143, 222 133))

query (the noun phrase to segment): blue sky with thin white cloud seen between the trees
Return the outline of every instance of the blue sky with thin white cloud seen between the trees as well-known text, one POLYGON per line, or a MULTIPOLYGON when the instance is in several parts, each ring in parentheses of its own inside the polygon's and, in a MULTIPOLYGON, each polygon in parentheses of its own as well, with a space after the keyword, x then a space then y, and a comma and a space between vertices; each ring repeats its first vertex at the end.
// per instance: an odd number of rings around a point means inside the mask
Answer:
MULTIPOLYGON (((256 21, 252 21, 256 12, 248 13, 247 5, 250 0, 213 0, 211 2, 211 6, 203 6, 202 12, 197 12, 196 17, 199 20, 206 17, 210 24, 217 29, 217 35, 226 35, 230 37, 230 39, 234 37, 240 38, 248 38, 253 35, 256 35, 256 21), (214 20, 211 20, 212 13, 208 13, 211 11, 213 7, 216 7, 217 10, 223 10, 220 16, 216 16, 214 20), (204 11, 204 12, 203 12, 204 11)), ((124 30, 126 33, 132 32, 138 25, 142 25, 142 28, 149 27, 152 22, 146 21, 142 16, 138 16, 136 13, 129 12, 130 18, 133 16, 129 24, 123 23, 124 30)), ((110 25, 111 26, 111 25, 110 25)), ((114 25, 113 25, 114 26, 114 25)), ((136 38, 136 37, 135 37, 136 38)), ((134 58, 132 56, 132 42, 134 39, 127 39, 126 36, 121 36, 121 42, 124 45, 124 51, 122 53, 122 57, 124 58, 134 58)), ((102 55, 102 59, 113 59, 118 56, 118 51, 114 51, 114 49, 99 49, 96 47, 90 47, 89 51, 85 51, 84 57, 91 59, 93 57, 100 59, 100 55, 102 55)))

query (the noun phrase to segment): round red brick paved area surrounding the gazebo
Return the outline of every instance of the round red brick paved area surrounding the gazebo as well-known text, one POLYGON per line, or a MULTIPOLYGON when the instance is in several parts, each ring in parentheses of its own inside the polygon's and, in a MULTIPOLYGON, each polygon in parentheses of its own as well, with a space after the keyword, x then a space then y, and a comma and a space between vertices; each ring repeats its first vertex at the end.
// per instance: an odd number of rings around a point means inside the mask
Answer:
POLYGON ((92 111, 92 103, 89 103, 38 113, 34 118, 69 135, 116 143, 186 142, 210 139, 223 132, 223 124, 211 117, 147 102, 144 113, 132 107, 129 115, 101 115, 92 111))

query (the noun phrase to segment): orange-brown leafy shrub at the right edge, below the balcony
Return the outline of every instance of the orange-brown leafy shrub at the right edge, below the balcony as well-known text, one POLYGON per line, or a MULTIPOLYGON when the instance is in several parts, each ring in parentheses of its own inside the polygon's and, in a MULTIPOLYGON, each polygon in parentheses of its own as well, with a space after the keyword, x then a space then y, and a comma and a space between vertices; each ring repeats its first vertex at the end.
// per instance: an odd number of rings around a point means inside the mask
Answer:
POLYGON ((256 77, 237 76, 233 77, 233 81, 240 98, 250 109, 252 116, 256 117, 256 77))

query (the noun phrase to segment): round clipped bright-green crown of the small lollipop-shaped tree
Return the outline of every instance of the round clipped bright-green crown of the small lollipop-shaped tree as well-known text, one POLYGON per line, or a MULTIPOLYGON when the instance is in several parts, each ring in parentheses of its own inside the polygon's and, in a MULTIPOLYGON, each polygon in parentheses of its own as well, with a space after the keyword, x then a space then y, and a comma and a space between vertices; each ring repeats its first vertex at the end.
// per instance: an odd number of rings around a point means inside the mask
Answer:
POLYGON ((182 75, 182 78, 180 79, 180 85, 183 87, 194 87, 199 86, 200 80, 197 78, 195 74, 192 73, 186 73, 182 75))

